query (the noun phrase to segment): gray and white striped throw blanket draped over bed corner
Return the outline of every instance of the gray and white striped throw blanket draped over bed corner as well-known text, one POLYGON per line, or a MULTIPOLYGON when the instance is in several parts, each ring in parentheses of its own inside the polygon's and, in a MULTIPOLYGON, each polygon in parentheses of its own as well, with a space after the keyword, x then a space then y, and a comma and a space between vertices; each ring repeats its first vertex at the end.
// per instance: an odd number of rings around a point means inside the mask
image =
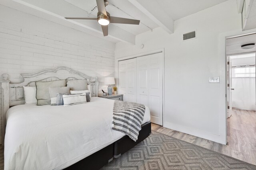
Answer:
POLYGON ((144 113, 145 106, 143 104, 115 100, 112 129, 123 132, 136 141, 141 129, 144 113))

